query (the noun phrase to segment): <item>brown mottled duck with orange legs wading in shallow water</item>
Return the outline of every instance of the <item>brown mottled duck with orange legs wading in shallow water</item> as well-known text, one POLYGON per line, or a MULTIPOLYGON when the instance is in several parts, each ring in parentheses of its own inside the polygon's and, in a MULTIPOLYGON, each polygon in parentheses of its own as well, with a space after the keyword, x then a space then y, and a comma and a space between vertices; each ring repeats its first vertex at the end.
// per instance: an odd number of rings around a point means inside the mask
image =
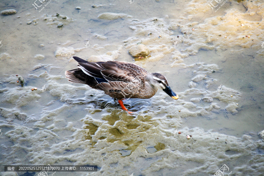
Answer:
POLYGON ((132 112, 124 106, 124 98, 148 99, 155 95, 158 88, 175 100, 179 98, 160 73, 148 73, 130 62, 87 62, 76 56, 73 58, 78 62, 78 68, 65 72, 68 81, 104 91, 110 97, 117 98, 122 109, 128 113, 132 112))

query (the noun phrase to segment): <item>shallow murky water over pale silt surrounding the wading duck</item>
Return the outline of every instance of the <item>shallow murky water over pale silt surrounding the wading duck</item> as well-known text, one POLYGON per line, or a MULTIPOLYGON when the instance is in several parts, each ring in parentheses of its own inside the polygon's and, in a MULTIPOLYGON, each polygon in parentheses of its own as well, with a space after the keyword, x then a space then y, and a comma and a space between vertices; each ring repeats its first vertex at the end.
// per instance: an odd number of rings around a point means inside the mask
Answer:
POLYGON ((98 165, 78 175, 214 175, 226 164, 230 175, 263 174, 261 0, 216 12, 205 0, 52 0, 40 12, 32 3, 0 2, 17 11, 0 15, 0 175, 38 175, 4 172, 6 164, 98 165), (98 18, 106 12, 125 15, 98 18), (137 43, 149 57, 128 54, 137 43), (103 92, 67 81, 72 56, 135 62, 165 75, 180 98, 159 90, 128 99, 128 115, 103 92))

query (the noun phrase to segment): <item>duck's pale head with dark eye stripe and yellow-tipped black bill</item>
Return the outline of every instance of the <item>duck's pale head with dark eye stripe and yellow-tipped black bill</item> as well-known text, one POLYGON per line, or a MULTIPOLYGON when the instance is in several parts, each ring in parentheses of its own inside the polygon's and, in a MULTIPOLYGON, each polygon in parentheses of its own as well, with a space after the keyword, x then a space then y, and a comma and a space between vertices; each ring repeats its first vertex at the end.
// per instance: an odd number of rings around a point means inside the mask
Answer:
POLYGON ((166 77, 161 75, 160 73, 149 73, 148 75, 146 75, 145 80, 153 87, 162 89, 173 99, 177 100, 179 98, 179 96, 175 94, 175 92, 173 92, 170 88, 166 77))

